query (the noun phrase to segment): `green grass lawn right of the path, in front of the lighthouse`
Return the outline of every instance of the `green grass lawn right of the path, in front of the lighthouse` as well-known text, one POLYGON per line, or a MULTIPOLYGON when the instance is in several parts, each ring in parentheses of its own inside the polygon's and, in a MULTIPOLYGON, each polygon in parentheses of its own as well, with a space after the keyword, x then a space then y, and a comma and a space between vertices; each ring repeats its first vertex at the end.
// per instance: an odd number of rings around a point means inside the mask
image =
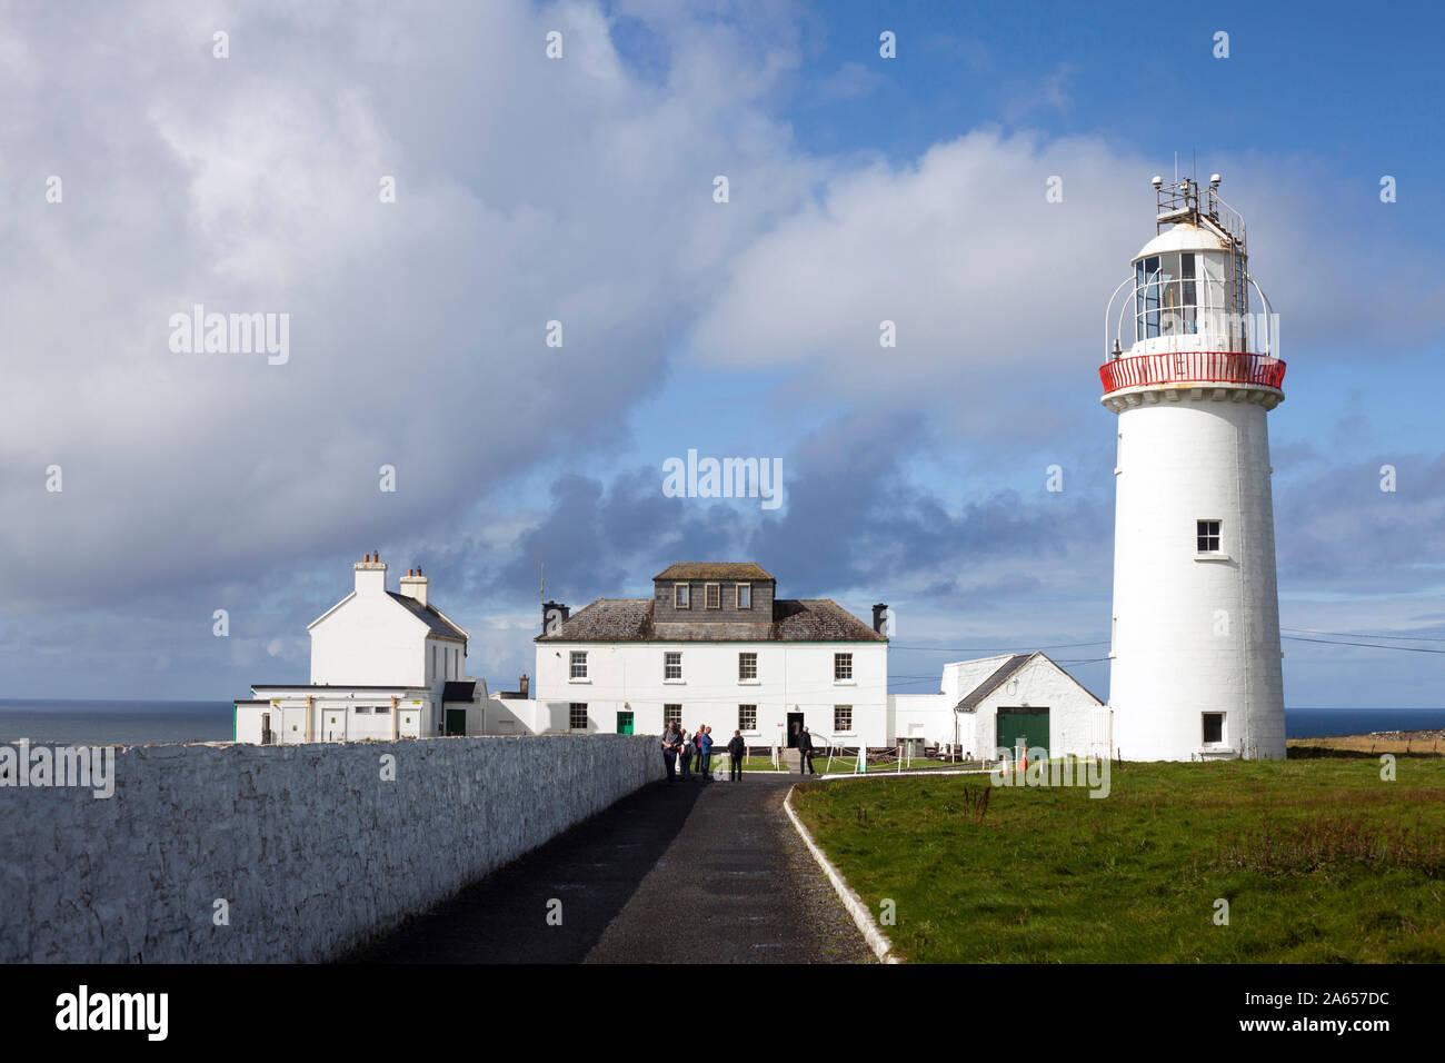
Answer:
POLYGON ((918 962, 1445 960, 1445 759, 1114 765, 1111 794, 837 781, 793 804, 918 962), (1215 900, 1230 924, 1215 926, 1215 900))

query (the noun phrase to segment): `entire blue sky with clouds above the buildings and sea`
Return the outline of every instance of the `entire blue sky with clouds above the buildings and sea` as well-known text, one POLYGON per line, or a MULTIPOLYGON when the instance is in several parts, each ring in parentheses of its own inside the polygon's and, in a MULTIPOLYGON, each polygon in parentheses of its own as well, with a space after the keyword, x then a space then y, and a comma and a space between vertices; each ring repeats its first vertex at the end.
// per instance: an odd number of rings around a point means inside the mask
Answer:
MULTIPOLYGON (((892 603, 896 690, 1059 646, 1104 696, 1100 321, 1176 152, 1280 312, 1283 625, 1445 646, 1429 6, 79 10, 79 46, 0 20, 0 696, 302 680, 374 550, 426 567, 494 687, 532 671, 540 564, 577 607, 746 558, 892 603), (178 360, 194 302, 289 311, 290 363, 178 360), (689 448, 782 458, 788 505, 663 498, 689 448)), ((1286 701, 1436 706, 1436 659, 1290 641, 1286 701)))

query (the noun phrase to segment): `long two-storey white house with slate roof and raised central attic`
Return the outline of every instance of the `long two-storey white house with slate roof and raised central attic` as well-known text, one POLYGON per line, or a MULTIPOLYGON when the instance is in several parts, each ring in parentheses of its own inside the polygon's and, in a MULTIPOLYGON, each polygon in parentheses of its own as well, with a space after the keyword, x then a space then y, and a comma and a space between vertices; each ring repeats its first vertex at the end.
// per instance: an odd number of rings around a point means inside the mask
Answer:
POLYGON ((793 746, 806 726, 848 746, 892 742, 887 648, 835 602, 779 599, 762 567, 675 564, 652 594, 543 606, 536 732, 660 733, 709 725, 725 743, 793 746))

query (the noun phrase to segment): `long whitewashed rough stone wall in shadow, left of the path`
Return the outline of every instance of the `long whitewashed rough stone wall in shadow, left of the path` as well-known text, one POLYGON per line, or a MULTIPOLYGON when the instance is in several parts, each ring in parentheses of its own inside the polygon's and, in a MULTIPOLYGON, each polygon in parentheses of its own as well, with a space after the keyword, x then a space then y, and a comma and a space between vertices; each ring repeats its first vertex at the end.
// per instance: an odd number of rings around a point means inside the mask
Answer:
POLYGON ((327 960, 660 778, 656 743, 130 746, 110 798, 3 787, 0 962, 327 960))

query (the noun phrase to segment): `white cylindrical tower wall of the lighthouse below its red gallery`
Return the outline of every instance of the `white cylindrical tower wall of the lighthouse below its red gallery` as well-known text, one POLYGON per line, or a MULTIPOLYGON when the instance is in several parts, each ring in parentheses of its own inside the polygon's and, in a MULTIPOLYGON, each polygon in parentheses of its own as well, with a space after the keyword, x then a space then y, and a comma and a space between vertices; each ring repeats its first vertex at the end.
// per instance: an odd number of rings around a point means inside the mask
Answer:
MULTIPOLYGON (((1285 755, 1266 409, 1243 388, 1144 392, 1118 414, 1110 704, 1120 755, 1285 755), (1220 519, 1218 558, 1195 522, 1220 519), (1202 745, 1202 713, 1224 742, 1202 745)), ((1276 396, 1277 398, 1277 396, 1276 396)))

